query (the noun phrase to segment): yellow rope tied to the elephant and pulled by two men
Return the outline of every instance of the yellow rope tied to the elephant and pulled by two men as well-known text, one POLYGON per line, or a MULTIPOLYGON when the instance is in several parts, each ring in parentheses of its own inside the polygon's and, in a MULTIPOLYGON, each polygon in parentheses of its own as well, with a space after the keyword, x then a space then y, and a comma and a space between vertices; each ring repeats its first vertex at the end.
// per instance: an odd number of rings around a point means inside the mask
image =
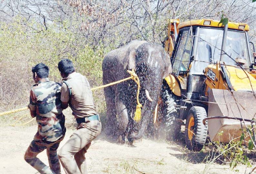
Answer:
MULTIPOLYGON (((139 79, 138 75, 135 73, 134 69, 132 69, 132 71, 127 70, 127 72, 131 75, 130 77, 127 77, 125 79, 122 79, 122 80, 119 80, 119 81, 116 81, 116 82, 113 82, 113 83, 109 83, 109 84, 105 84, 105 85, 98 86, 98 87, 95 87, 95 88, 91 88, 91 90, 94 91, 94 90, 97 90, 97 89, 102 89, 102 88, 105 88, 105 87, 108 87, 108 86, 112 86, 112 85, 115 85, 115 84, 118 84, 118 83, 122 83, 122 82, 130 80, 130 79, 134 80, 134 82, 138 86, 138 89, 137 89, 137 96, 136 96, 137 106, 136 106, 136 111, 135 111, 133 119, 138 122, 141 119, 141 108, 142 108, 142 104, 139 101, 140 79, 139 79)), ((8 115, 8 114, 14 114, 14 113, 21 112, 21 111, 24 111, 24 110, 27 110, 27 109, 29 109, 29 108, 28 107, 24 107, 24 108, 19 108, 19 109, 14 109, 14 110, 2 112, 2 113, 0 113, 0 116, 4 116, 4 115, 8 115)), ((22 118, 24 118, 24 117, 22 117, 22 118)), ((21 120, 22 118, 18 119, 17 121, 21 120)), ((30 123, 31 121, 34 120, 34 118, 32 118, 28 122, 26 122, 24 124, 21 124, 21 125, 26 125, 26 124, 30 123)), ((11 126, 19 126, 19 125, 14 125, 13 124, 11 126)))

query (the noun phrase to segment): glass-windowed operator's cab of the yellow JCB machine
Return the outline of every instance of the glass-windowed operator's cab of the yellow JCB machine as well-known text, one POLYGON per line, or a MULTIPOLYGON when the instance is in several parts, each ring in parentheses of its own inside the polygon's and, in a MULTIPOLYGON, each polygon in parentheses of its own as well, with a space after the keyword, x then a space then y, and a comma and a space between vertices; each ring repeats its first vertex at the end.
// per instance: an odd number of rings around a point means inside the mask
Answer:
MULTIPOLYGON (((199 20, 193 24, 183 22, 178 25, 179 34, 172 53, 172 73, 178 77, 182 95, 187 99, 199 99, 204 90, 202 83, 205 79, 205 68, 220 61, 223 27, 216 27, 218 22, 212 24, 213 26, 211 23, 214 21, 199 20), (202 25, 193 25, 197 23, 202 25)), ((246 30, 249 28, 246 24, 243 27, 246 30)), ((227 31, 224 62, 226 65, 238 66, 235 60, 243 61, 242 67, 249 71, 251 52, 246 30, 238 29, 235 24, 230 26, 227 31)), ((214 78, 212 73, 209 76, 214 78)))

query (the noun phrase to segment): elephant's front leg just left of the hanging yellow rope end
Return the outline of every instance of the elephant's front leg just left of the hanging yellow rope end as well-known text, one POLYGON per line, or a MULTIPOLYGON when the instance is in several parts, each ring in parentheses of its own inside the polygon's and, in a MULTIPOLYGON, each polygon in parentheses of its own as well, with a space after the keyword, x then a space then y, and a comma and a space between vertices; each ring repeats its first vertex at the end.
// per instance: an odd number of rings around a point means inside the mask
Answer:
POLYGON ((115 96, 115 107, 118 116, 118 141, 119 143, 123 144, 125 142, 125 135, 127 133, 127 126, 128 126, 128 109, 123 104, 121 100, 118 99, 118 96, 115 96))

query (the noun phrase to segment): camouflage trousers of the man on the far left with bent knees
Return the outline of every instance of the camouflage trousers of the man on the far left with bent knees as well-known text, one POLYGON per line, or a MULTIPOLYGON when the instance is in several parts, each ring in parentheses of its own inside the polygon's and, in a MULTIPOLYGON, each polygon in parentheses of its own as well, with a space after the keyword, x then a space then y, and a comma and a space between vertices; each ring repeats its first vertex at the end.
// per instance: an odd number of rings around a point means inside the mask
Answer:
POLYGON ((58 159, 57 149, 63 138, 64 135, 55 142, 33 140, 25 153, 25 161, 41 174, 60 174, 60 161, 58 159), (36 157, 37 154, 43 152, 45 149, 50 168, 36 157))

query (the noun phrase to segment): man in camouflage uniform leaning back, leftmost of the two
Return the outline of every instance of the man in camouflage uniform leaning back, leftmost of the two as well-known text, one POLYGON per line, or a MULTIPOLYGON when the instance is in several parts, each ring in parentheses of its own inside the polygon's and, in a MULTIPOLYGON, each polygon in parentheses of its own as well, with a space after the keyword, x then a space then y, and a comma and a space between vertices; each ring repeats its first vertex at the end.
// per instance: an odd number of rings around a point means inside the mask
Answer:
POLYGON ((37 64, 32 68, 34 84, 30 91, 28 108, 32 117, 36 117, 38 131, 25 153, 25 161, 44 174, 60 174, 60 161, 57 148, 63 140, 66 128, 62 114, 59 83, 49 81, 49 68, 37 64), (36 156, 46 149, 50 168, 36 156))

